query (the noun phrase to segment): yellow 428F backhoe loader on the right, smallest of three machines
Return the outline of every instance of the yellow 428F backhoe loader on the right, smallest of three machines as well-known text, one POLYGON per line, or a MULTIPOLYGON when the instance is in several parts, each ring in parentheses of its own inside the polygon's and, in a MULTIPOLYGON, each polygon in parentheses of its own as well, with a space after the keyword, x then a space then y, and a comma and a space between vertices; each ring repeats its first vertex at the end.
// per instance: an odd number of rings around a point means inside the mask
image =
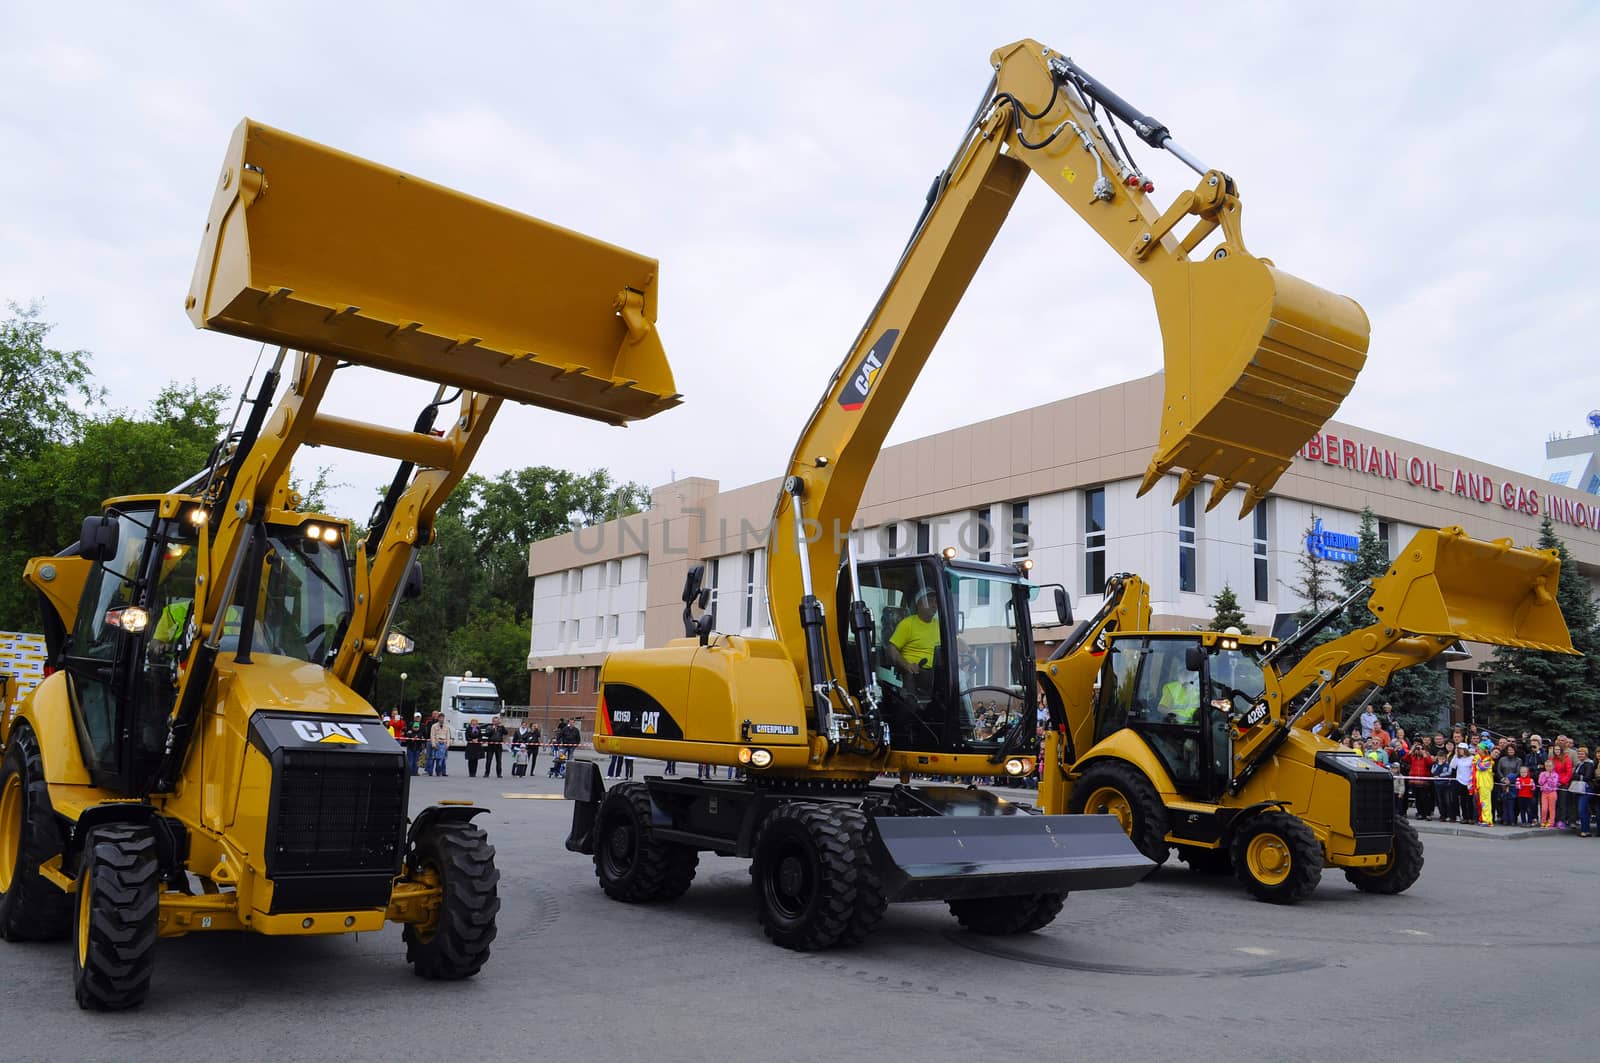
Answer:
POLYGON ((1573 653, 1558 578, 1557 551, 1422 530, 1389 572, 1278 642, 1150 631, 1144 581, 1112 576, 1099 613, 1040 664, 1038 804, 1110 813, 1155 863, 1176 845, 1264 901, 1304 900, 1325 866, 1400 893, 1422 872, 1422 840, 1395 816, 1394 776, 1331 735, 1394 672, 1458 640, 1573 653), (1318 644, 1360 607, 1371 623, 1318 644))

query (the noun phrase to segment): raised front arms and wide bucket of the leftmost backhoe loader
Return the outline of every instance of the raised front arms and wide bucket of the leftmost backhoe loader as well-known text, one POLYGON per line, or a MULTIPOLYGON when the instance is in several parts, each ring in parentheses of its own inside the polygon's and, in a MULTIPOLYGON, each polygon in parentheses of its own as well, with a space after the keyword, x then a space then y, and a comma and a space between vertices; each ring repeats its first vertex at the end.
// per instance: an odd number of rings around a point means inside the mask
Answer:
POLYGON ((506 400, 610 424, 678 403, 654 330, 656 275, 654 259, 280 130, 238 125, 186 306, 200 328, 280 347, 242 437, 200 487, 206 535, 194 637, 157 789, 178 780, 221 618, 248 586, 251 543, 264 523, 299 520, 288 487, 299 448, 402 463, 389 519, 355 551, 354 612, 330 663, 360 685, 382 656, 416 551, 432 541, 438 507, 506 400), (291 349, 288 389, 272 405, 291 349), (347 365, 434 383, 434 405, 454 387, 459 415, 435 435, 326 413, 333 375, 347 365))

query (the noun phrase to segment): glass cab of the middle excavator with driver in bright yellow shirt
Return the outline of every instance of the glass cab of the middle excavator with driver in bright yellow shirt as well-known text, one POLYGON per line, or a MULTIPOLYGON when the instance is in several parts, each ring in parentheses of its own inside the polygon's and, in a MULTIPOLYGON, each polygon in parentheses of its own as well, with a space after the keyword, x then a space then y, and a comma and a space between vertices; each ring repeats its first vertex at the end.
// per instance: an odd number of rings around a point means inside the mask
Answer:
MULTIPOLYGON (((872 668, 890 744, 915 752, 1011 756, 1035 748, 1034 629, 1038 586, 1010 565, 941 556, 859 562, 872 616, 872 668)), ((838 616, 850 615, 840 570, 838 616)), ((851 690, 861 690, 846 653, 851 690)))

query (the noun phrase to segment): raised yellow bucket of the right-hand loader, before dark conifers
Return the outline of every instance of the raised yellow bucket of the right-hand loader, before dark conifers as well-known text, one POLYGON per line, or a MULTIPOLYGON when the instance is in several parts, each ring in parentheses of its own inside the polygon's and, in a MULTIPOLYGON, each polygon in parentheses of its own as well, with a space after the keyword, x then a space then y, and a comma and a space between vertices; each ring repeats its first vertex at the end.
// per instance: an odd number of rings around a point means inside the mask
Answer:
POLYGON ((1422 530, 1373 581, 1366 607, 1411 634, 1576 653, 1555 600, 1560 576, 1554 549, 1485 543, 1459 527, 1422 530))

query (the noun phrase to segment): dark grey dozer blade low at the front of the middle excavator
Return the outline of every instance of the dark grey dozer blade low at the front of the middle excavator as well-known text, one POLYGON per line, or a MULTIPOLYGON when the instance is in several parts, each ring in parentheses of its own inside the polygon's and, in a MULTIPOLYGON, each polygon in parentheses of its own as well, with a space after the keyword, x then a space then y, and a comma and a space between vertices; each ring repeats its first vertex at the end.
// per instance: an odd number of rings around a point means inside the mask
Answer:
POLYGON ((986 791, 931 789, 958 802, 950 815, 872 821, 891 901, 1106 890, 1155 869, 1115 816, 1037 816, 986 791))

